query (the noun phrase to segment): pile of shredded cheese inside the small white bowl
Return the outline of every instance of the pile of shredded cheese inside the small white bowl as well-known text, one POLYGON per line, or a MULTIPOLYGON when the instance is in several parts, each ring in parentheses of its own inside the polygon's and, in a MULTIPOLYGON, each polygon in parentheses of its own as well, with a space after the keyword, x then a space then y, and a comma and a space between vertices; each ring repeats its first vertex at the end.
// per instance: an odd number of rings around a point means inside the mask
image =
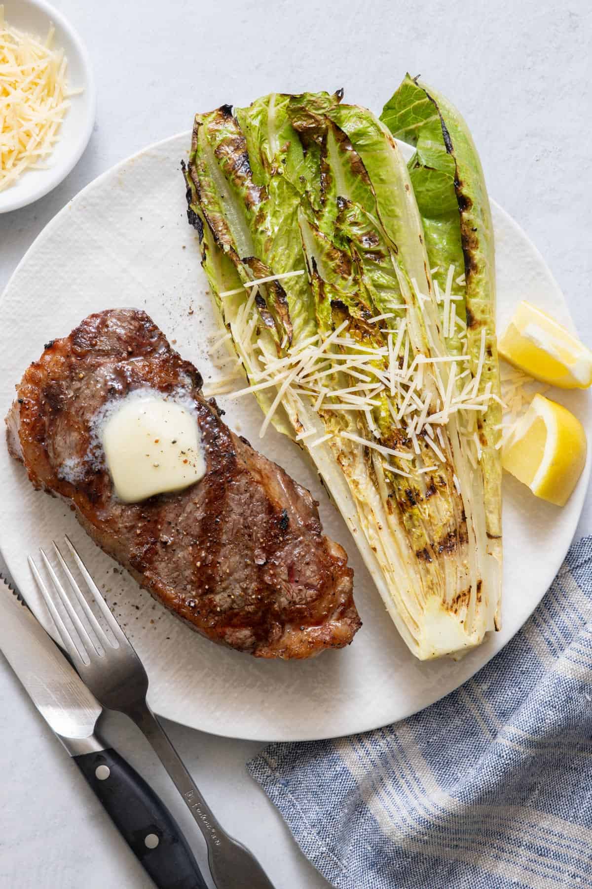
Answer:
POLYGON ((0 191, 22 172, 43 169, 70 106, 67 60, 41 39, 12 28, 0 4, 0 191))

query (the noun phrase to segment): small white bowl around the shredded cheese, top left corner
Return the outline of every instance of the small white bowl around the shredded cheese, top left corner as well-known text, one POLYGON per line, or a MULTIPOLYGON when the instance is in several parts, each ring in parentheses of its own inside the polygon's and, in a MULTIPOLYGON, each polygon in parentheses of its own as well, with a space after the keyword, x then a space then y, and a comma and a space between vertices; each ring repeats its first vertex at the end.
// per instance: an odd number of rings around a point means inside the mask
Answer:
POLYGON ((55 27, 53 46, 63 49, 67 58, 67 82, 70 89, 83 87, 83 92, 72 96, 64 121, 59 128, 59 140, 51 155, 43 163, 46 170, 27 170, 14 185, 0 191, 0 213, 17 210, 32 204, 59 185, 77 164, 91 138, 95 120, 96 91, 91 61, 83 41, 61 12, 45 0, 1 0, 4 20, 13 28, 34 36, 47 35, 51 22, 55 27))

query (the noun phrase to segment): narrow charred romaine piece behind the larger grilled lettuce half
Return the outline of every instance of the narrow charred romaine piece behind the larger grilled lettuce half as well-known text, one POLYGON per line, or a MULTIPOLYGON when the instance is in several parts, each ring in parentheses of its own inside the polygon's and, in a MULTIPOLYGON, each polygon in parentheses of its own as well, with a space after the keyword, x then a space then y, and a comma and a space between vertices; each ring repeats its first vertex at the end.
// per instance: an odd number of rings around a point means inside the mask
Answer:
MULTIPOLYGON (((453 266, 464 275, 462 317, 466 319, 471 370, 483 364, 478 396, 487 386, 500 397, 495 336, 493 222, 485 176, 469 128, 444 96, 407 74, 381 115, 394 136, 415 148, 409 172, 422 213, 434 276, 442 290, 453 266)), ((490 399, 476 417, 483 449, 485 513, 489 550, 501 572, 501 402, 490 399)), ((496 620, 500 621, 499 613, 496 620)))

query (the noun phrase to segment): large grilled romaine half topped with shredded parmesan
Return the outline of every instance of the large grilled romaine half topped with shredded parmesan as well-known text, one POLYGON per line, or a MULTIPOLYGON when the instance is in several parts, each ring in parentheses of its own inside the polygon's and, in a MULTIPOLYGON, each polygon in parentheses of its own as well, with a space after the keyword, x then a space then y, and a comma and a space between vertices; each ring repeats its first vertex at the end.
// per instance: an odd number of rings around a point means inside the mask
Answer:
POLYGON ((342 98, 272 93, 197 115, 189 218, 261 435, 272 423, 305 448, 401 636, 428 659, 495 626, 500 563, 471 424, 499 393, 493 373, 482 385, 447 270, 438 302, 396 141, 342 98))

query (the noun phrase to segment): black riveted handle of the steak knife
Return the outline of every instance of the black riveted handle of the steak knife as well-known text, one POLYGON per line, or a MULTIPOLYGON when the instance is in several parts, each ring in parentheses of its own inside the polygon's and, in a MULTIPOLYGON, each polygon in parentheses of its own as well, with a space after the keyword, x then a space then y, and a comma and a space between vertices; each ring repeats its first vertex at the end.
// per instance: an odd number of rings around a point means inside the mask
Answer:
POLYGON ((177 822, 113 748, 72 757, 158 889, 207 889, 177 822))

